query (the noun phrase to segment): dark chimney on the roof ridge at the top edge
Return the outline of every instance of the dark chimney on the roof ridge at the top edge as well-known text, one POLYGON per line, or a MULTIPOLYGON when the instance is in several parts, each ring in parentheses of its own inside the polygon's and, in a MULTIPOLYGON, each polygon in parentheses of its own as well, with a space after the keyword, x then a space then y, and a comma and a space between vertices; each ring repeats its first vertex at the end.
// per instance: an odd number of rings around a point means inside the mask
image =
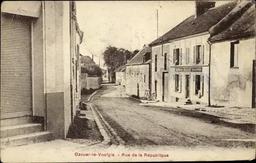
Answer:
POLYGON ((205 11, 207 11, 210 8, 215 7, 216 2, 212 1, 196 1, 196 13, 195 18, 199 15, 202 15, 205 11))

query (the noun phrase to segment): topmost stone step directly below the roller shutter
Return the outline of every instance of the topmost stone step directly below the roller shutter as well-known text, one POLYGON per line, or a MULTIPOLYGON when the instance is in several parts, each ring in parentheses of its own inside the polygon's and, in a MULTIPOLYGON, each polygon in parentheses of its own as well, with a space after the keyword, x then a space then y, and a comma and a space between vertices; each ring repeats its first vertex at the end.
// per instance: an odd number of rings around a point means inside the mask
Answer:
POLYGON ((33 120, 32 116, 2 119, 1 120, 1 127, 28 124, 28 123, 31 123, 32 120, 33 120))

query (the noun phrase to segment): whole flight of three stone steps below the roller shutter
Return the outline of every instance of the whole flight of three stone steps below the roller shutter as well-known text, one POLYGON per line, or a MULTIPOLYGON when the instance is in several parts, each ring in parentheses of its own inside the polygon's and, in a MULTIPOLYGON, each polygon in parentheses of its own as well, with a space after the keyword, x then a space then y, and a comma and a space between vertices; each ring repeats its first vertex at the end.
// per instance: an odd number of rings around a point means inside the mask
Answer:
POLYGON ((32 117, 1 120, 1 148, 28 145, 52 140, 52 132, 43 131, 40 123, 33 123, 32 117))

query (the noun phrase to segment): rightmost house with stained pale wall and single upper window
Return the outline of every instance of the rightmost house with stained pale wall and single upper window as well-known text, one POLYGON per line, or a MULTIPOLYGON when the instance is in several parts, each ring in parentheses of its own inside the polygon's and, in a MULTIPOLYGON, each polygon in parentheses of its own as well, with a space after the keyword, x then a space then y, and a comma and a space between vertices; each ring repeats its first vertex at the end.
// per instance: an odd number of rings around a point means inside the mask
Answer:
POLYGON ((255 5, 245 1, 233 13, 211 30, 210 104, 255 108, 255 5))

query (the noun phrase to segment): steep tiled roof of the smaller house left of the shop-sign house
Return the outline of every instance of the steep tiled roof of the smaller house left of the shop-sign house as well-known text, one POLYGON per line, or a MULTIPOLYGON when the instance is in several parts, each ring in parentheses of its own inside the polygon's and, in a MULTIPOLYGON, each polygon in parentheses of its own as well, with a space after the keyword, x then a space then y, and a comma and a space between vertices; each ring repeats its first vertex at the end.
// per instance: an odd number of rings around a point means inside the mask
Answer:
MULTIPOLYGON (((134 64, 143 64, 143 55, 145 53, 151 53, 151 48, 148 45, 145 45, 141 51, 139 51, 126 65, 134 65, 134 64)), ((145 57, 146 58, 146 57, 145 57)), ((149 58, 148 58, 149 59, 149 58)), ((146 61, 148 61, 145 60, 146 61)))

